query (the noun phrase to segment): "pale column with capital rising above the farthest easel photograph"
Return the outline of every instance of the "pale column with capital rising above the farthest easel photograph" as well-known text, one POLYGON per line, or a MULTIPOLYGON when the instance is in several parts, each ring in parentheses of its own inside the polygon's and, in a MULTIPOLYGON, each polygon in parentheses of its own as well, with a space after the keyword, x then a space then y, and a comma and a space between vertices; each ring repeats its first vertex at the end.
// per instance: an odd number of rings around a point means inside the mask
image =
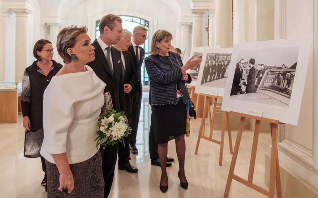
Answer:
POLYGON ((192 11, 191 12, 193 21, 192 21, 192 46, 201 47, 202 46, 202 31, 205 31, 203 28, 203 14, 204 11, 192 11))

